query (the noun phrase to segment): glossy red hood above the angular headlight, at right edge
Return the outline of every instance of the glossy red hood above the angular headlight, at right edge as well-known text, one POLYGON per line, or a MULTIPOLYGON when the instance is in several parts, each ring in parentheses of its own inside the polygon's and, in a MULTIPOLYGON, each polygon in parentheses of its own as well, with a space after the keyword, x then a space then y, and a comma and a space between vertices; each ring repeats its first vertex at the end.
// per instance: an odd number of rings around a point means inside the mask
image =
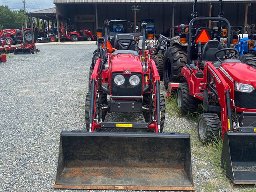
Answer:
POLYGON ((256 88, 256 69, 244 63, 224 63, 218 69, 231 81, 250 84, 256 88), (224 72, 226 71, 226 72, 224 72))

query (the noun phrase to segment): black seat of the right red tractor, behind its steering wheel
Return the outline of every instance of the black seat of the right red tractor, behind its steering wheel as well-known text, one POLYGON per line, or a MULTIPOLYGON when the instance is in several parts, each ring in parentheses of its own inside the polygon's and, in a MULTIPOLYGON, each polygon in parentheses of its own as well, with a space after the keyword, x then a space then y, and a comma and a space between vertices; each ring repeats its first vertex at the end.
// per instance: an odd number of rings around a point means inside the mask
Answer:
MULTIPOLYGON (((207 62, 210 61, 212 62, 213 66, 216 67, 217 69, 221 66, 221 62, 214 57, 214 54, 218 51, 223 49, 224 47, 222 44, 220 44, 219 41, 217 40, 210 40, 206 44, 204 44, 202 48, 202 61, 207 62)), ((225 53, 220 52, 217 54, 218 57, 224 57, 225 53)))

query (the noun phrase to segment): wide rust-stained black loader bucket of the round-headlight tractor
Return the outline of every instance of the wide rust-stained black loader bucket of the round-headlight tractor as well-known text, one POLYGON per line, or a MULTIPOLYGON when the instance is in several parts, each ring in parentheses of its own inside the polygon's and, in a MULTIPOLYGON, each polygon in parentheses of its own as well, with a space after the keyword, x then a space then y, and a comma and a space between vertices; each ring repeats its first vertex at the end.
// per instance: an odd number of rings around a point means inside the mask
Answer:
POLYGON ((194 190, 189 134, 60 134, 54 188, 194 190))

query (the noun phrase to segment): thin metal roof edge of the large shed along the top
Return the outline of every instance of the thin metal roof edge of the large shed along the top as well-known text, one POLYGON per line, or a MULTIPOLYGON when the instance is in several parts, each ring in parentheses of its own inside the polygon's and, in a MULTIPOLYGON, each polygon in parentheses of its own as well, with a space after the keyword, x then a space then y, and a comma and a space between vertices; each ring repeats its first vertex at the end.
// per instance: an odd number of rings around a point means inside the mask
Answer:
MULTIPOLYGON (((211 2, 218 2, 219 0, 211 0, 211 2)), ((223 0, 224 2, 255 2, 255 0, 223 0)), ((186 3, 194 2, 194 0, 54 0, 56 3, 66 3, 66 4, 94 4, 94 3, 186 3)), ((200 2, 209 2, 209 0, 201 0, 200 2)))

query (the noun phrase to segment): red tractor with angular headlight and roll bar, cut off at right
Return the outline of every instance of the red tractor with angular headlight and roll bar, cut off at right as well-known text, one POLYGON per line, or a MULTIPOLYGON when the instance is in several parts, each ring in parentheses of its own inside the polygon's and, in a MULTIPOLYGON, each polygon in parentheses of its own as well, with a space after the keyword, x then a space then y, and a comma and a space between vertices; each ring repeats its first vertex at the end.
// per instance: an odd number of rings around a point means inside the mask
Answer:
POLYGON ((181 70, 186 82, 177 89, 178 107, 188 114, 202 103, 199 139, 205 143, 222 136, 221 162, 227 176, 234 184, 256 184, 256 69, 234 59, 238 51, 230 48, 230 23, 225 18, 196 17, 186 35, 188 59, 181 70), (196 20, 226 22, 226 48, 210 39, 209 28, 193 30, 196 20), (192 42, 196 42, 197 53, 191 51, 192 42))

